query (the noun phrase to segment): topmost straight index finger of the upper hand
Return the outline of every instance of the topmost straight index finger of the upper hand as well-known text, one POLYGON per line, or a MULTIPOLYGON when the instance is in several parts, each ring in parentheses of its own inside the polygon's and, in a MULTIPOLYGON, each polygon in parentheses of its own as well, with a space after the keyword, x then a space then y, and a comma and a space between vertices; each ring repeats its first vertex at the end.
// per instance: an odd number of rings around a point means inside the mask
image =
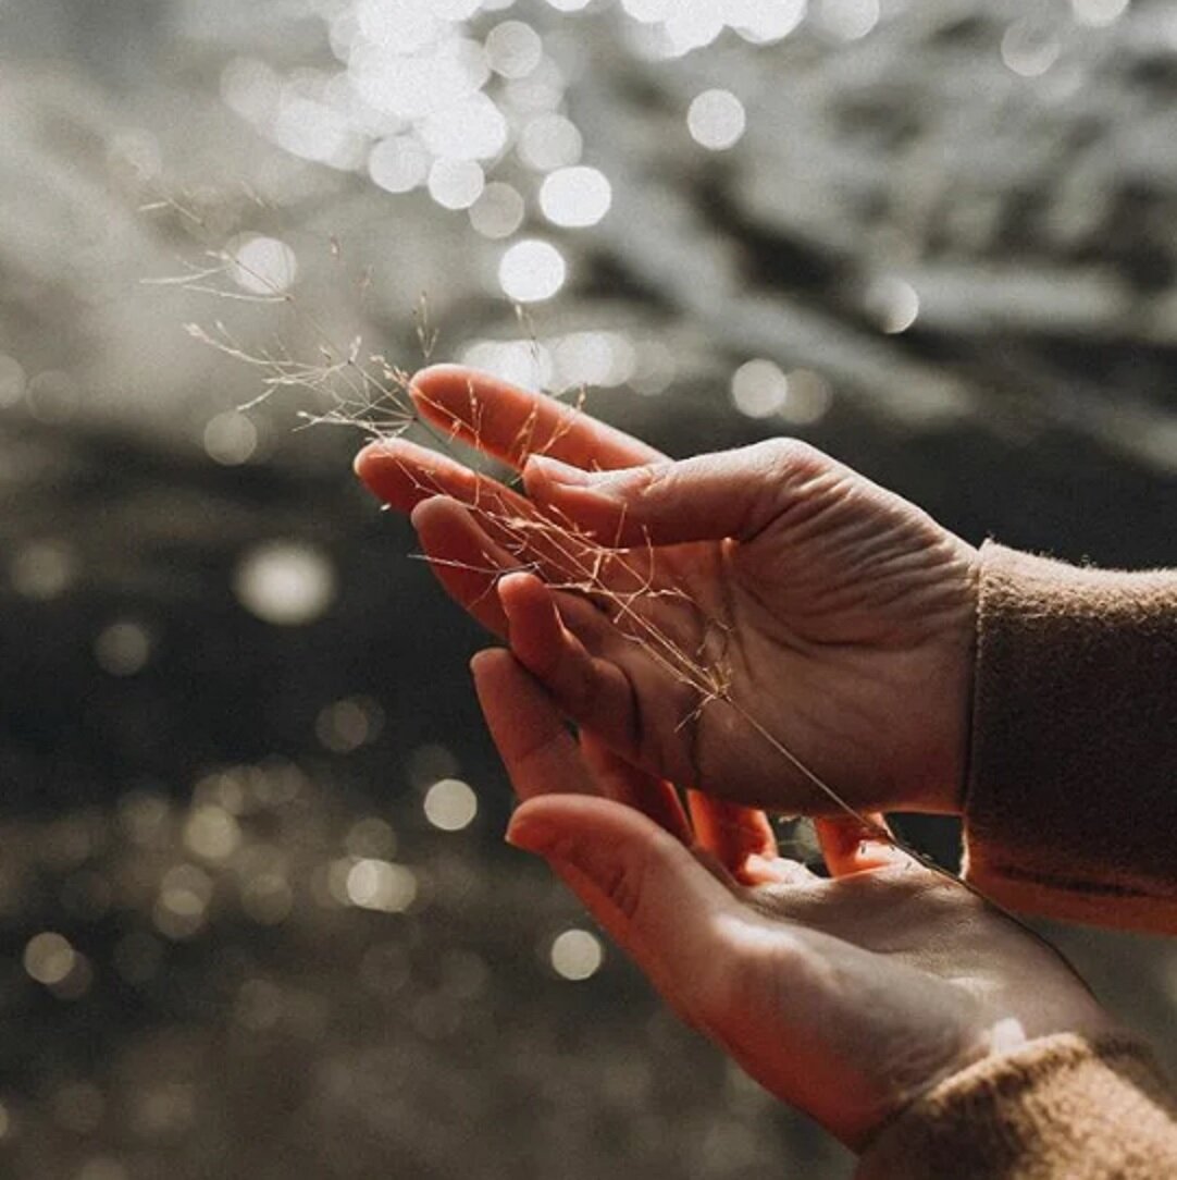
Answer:
POLYGON ((594 468, 662 458, 653 447, 574 406, 458 365, 423 369, 413 378, 410 392, 423 418, 514 467, 531 454, 594 468))

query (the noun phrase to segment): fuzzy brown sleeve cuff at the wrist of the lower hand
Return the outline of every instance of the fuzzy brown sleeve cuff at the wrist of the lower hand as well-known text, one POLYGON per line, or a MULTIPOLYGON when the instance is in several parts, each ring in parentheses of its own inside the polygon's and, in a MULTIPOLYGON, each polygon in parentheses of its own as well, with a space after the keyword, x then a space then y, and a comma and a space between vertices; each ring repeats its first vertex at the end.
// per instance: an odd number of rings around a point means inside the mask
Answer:
POLYGON ((1126 1037, 1059 1034, 941 1082, 890 1122, 855 1180, 1172 1180, 1177 1106, 1126 1037))

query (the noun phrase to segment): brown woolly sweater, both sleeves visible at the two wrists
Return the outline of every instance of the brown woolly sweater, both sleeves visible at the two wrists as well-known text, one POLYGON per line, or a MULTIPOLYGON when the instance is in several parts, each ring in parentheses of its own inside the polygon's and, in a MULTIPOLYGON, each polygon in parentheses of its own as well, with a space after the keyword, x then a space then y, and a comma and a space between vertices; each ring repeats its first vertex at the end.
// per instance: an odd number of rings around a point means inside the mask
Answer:
MULTIPOLYGON (((985 545, 973 693, 966 878, 1012 910, 1177 935, 1177 573, 985 545)), ((1173 1180, 1177 1099, 1126 1035, 1032 1041, 921 1095, 856 1173, 941 1178, 1173 1180)))

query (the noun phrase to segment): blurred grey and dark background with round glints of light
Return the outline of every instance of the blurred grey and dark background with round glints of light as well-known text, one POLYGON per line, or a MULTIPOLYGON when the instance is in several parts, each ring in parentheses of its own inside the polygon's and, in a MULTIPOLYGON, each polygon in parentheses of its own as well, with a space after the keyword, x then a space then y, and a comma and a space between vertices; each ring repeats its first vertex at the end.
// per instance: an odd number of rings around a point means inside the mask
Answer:
MULTIPOLYGON (((0 1171, 848 1175, 502 847, 311 369, 1171 564, 1175 99, 1168 0, 0 0, 0 1171)), ((1056 933, 1177 1064, 1177 953, 1056 933)))

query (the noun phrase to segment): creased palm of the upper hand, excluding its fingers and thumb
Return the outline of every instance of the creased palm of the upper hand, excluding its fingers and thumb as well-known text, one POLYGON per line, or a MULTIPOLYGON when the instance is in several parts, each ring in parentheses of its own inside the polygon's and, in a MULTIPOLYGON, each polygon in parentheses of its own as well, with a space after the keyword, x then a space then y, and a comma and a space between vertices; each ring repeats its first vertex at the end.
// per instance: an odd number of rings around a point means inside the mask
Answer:
MULTIPOLYGON (((591 491, 528 486, 599 535, 617 527, 591 491)), ((745 540, 630 551, 633 572, 613 571, 604 604, 629 642, 564 601, 567 628, 632 697, 627 712, 619 694, 603 694, 599 717, 584 720, 647 769, 743 804, 829 809, 762 728, 856 806, 951 809, 966 741, 973 550, 809 448, 789 447, 778 486, 745 540), (631 585, 643 586, 640 602, 626 596, 631 585)), ((632 519, 622 527, 636 539, 632 519)), ((677 537, 691 525, 673 527, 677 537)), ((513 622, 526 627, 527 616, 513 622)))

